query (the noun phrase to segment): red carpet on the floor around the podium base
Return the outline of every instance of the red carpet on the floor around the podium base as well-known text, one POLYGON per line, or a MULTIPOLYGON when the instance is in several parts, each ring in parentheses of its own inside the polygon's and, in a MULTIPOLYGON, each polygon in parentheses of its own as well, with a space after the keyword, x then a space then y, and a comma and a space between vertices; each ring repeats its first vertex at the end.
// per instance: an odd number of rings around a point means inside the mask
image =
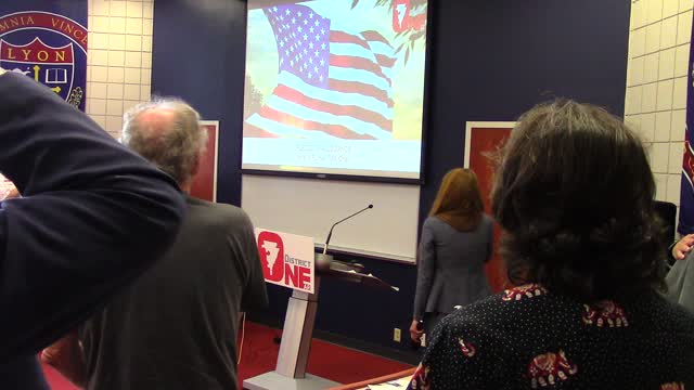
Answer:
MULTIPOLYGON (((272 341, 279 332, 262 325, 246 323, 246 337, 239 364, 239 388, 244 379, 274 369, 280 346, 272 341)), ((308 362, 308 372, 340 384, 356 382, 411 366, 369 353, 355 351, 330 342, 313 340, 308 362)), ((44 367, 46 376, 53 390, 75 390, 50 367, 44 367)))

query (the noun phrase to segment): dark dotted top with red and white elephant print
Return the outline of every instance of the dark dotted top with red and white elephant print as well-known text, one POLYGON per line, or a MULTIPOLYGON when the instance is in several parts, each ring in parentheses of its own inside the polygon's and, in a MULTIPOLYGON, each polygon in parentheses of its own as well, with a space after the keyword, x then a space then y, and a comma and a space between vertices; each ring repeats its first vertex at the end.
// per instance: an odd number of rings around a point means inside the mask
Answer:
POLYGON ((447 316, 409 389, 694 389, 694 316, 656 292, 593 304, 525 285, 447 316))

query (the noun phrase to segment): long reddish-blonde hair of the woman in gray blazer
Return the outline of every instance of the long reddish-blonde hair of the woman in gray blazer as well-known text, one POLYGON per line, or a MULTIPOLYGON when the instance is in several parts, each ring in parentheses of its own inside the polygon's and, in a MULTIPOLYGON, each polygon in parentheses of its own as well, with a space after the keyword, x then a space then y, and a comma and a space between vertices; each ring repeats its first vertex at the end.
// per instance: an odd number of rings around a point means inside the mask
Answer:
POLYGON ((466 168, 451 169, 441 181, 429 216, 435 216, 461 232, 477 227, 484 204, 477 176, 466 168))

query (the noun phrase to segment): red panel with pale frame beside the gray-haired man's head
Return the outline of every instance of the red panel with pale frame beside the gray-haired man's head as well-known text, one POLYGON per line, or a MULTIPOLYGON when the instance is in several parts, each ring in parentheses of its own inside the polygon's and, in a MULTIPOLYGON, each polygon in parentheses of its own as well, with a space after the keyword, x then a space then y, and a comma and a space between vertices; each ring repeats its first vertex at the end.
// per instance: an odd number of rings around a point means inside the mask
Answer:
POLYGON ((219 121, 201 120, 201 125, 207 131, 207 150, 201 157, 197 173, 193 178, 191 195, 217 202, 217 164, 219 156, 219 121))

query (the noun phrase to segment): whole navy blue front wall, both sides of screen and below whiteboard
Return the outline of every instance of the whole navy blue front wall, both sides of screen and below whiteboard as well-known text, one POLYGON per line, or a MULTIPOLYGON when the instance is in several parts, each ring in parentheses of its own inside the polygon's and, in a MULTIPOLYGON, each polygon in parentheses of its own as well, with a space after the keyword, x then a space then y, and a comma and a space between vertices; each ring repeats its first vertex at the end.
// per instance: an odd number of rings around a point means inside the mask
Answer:
MULTIPOLYGON (((514 120, 534 104, 573 98, 624 112, 628 0, 432 0, 428 126, 420 216, 437 185, 462 164, 464 122, 514 120)), ((241 197, 241 128, 245 2, 159 0, 154 6, 153 91, 179 95, 208 119, 220 119, 219 199, 241 197)), ((324 281, 317 328, 380 347, 411 321, 416 271, 359 259, 399 286, 399 294, 324 281)), ((279 323, 285 290, 269 287, 271 307, 256 313, 279 323)))

